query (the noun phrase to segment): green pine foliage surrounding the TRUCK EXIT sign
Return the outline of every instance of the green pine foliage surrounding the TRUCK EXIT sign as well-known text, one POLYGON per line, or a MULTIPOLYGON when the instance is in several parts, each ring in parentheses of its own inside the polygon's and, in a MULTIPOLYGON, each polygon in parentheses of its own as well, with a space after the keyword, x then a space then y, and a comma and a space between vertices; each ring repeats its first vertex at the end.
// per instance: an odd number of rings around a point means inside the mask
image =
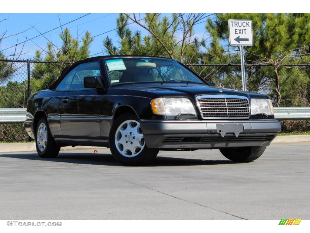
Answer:
MULTIPOLYGON (((253 65, 246 67, 248 90, 268 94, 277 106, 309 106, 309 69, 281 64, 309 63, 310 14, 229 13, 217 14, 215 21, 208 20, 206 30, 212 42, 206 57, 240 64, 237 47, 229 46, 229 19, 252 20, 254 45, 244 47, 245 61, 253 65)), ((240 71, 231 75, 230 69, 222 69, 216 75, 222 75, 227 87, 236 81, 235 87, 241 87, 240 71)))

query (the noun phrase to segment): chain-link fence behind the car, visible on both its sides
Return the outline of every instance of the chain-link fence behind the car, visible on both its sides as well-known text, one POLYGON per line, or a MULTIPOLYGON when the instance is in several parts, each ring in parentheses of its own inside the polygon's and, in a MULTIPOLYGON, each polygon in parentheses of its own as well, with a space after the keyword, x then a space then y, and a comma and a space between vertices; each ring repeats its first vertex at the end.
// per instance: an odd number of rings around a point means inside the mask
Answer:
MULTIPOLYGON (((0 108, 26 107, 29 96, 47 88, 60 75, 67 62, 30 60, 0 60, 0 108), (51 75, 52 74, 52 75, 51 75)), ((222 84, 224 88, 242 90, 240 64, 188 64, 208 82, 222 84)), ((309 107, 309 64, 281 65, 279 73, 289 88, 282 89, 281 107, 309 107), (298 72, 297 72, 298 71, 298 72), (308 85, 308 86, 307 86, 308 85)), ((247 90, 267 94, 276 102, 274 67, 272 65, 246 65, 247 90)), ((281 84, 285 84, 283 83, 281 84)), ((286 85, 287 86, 287 85, 286 85)), ((282 132, 310 131, 309 120, 281 121, 282 132)), ((28 134, 22 124, 0 124, 0 141, 27 141, 28 134)))

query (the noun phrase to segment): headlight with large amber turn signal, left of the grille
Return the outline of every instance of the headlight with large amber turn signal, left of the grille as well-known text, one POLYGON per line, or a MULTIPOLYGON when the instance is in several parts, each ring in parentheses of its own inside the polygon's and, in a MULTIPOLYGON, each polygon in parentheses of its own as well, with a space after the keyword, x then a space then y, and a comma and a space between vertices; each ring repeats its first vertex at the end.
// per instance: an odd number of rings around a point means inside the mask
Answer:
POLYGON ((188 98, 156 98, 151 100, 154 114, 177 116, 180 113, 196 115, 193 103, 188 98))

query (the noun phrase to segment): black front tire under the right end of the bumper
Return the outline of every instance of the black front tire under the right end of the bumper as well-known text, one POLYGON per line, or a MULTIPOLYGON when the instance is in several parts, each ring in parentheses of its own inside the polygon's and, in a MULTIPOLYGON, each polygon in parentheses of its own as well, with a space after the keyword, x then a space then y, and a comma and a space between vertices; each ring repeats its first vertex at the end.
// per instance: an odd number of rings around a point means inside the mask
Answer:
POLYGON ((222 148, 219 151, 234 162, 251 162, 258 159, 265 151, 266 146, 250 146, 239 148, 222 148))

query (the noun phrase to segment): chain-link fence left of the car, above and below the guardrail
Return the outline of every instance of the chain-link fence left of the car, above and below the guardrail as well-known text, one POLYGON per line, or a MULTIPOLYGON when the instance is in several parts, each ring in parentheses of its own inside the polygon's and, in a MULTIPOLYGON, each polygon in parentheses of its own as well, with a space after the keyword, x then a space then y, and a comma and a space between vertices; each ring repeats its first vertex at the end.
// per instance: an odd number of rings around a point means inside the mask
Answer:
MULTIPOLYGON (((67 62, 0 60, 0 108, 27 107, 31 94, 45 89, 57 78, 52 77, 46 83, 44 72, 56 70, 55 75, 59 76, 68 65, 67 62)), ((0 124, 0 142, 30 140, 23 124, 0 124)))

